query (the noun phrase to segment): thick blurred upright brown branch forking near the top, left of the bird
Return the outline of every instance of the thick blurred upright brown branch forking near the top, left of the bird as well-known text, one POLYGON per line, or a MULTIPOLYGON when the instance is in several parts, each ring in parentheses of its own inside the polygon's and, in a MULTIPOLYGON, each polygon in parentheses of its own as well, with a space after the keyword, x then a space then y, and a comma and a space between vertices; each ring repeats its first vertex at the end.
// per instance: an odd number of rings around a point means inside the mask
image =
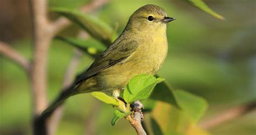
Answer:
MULTIPOLYGON (((46 134, 46 119, 39 114, 46 108, 48 101, 46 100, 47 90, 47 60, 48 51, 52 37, 56 35, 65 26, 71 24, 68 19, 60 17, 57 21, 50 23, 47 17, 47 1, 46 0, 29 0, 31 9, 31 18, 33 26, 33 63, 31 65, 31 87, 33 98, 33 133, 46 134)), ((106 0, 95 0, 86 5, 82 10, 89 12, 106 3, 106 0)), ((68 87, 63 90, 69 89, 68 87)), ((63 92, 62 92, 63 93, 63 92)), ((60 111, 61 112, 61 111, 60 111)))

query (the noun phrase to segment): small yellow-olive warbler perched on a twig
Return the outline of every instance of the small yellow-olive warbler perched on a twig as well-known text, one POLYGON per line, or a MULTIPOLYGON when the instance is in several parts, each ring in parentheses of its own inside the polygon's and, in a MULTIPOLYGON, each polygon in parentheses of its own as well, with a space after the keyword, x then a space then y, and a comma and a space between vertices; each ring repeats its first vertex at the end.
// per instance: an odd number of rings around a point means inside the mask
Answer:
POLYGON ((136 10, 120 36, 44 112, 79 93, 102 91, 118 97, 132 77, 155 75, 167 55, 166 27, 173 20, 157 5, 136 10))

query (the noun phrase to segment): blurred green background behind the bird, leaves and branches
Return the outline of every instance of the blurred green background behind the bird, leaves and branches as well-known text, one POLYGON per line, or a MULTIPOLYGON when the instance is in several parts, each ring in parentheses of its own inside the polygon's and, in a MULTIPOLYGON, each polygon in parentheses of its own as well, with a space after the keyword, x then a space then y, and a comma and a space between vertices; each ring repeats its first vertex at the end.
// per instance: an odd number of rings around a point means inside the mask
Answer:
MULTIPOLYGON (((49 0, 49 6, 77 9, 85 0, 49 0)), ((130 15, 140 6, 156 4, 170 17, 167 37, 169 53, 159 74, 176 89, 204 97, 208 110, 201 121, 228 107, 256 99, 255 0, 205 0, 226 20, 220 21, 181 0, 170 1, 110 1, 93 12, 107 24, 119 24, 122 32, 130 15)), ((10 43, 27 58, 32 56, 31 21, 28 2, 9 0, 0 4, 0 40, 10 43)), ((52 15, 55 18, 56 15, 52 15)), ((62 35, 76 37, 73 25, 62 35)), ((53 100, 62 86, 66 66, 73 53, 72 46, 53 40, 49 52, 48 98, 53 100)), ((87 68, 93 59, 83 56, 77 73, 87 68)), ((22 69, 5 57, 0 57, 0 134, 31 134, 31 90, 22 69)), ((74 96, 65 104, 64 116, 57 134, 86 134, 86 124, 93 118, 95 134, 134 134, 124 119, 111 126, 111 106, 99 102, 90 94, 74 96), (91 116, 91 112, 95 112, 91 116)), ((200 122, 199 122, 200 123, 200 122)), ((255 134, 256 112, 248 113, 216 126, 212 134, 255 134)))

